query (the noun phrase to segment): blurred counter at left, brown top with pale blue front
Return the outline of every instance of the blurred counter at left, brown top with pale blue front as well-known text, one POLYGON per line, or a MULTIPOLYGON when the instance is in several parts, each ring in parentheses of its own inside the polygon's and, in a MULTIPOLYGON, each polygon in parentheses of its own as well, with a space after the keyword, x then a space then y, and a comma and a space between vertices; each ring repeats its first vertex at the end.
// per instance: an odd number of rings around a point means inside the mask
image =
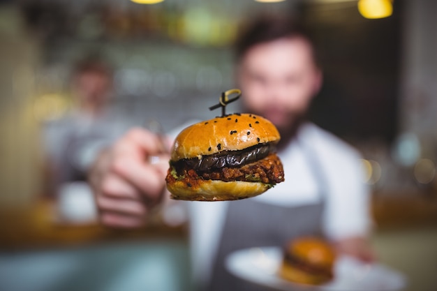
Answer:
POLYGON ((57 212, 54 200, 0 210, 0 290, 192 290, 186 225, 156 216, 121 230, 68 224, 57 212))

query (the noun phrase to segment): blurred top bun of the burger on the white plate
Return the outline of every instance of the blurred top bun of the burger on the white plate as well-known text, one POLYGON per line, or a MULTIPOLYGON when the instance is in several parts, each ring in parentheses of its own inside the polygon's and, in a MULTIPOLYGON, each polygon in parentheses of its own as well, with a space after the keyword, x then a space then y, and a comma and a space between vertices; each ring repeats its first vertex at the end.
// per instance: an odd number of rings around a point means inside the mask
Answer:
POLYGON ((316 237, 301 237, 290 242, 288 253, 302 262, 318 267, 332 267, 335 252, 331 245, 316 237))

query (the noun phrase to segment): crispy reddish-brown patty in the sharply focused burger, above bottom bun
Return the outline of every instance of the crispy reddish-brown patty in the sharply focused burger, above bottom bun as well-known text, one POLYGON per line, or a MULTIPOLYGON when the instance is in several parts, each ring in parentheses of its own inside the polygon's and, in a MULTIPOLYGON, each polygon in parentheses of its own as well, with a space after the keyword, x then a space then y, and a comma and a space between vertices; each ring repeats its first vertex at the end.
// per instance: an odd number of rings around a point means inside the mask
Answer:
MULTIPOLYGON (((175 168, 173 167, 173 169, 175 168)), ((186 166, 179 169, 177 175, 175 174, 175 172, 172 172, 172 167, 170 167, 166 178, 168 183, 182 180, 186 182, 187 186, 195 186, 199 179, 203 179, 262 182, 274 185, 284 181, 282 163, 274 153, 270 153, 265 158, 243 165, 242 167, 220 167, 209 169, 207 172, 196 172, 193 168, 186 166)))

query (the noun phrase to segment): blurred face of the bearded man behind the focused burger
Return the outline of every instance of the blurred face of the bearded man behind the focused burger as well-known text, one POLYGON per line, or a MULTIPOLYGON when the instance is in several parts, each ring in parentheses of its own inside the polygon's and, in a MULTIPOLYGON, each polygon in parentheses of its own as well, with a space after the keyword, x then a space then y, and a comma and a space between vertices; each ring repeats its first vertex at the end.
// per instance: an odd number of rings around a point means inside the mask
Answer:
POLYGON ((237 79, 246 110, 286 132, 320 89, 321 73, 304 38, 281 38, 246 52, 237 79))

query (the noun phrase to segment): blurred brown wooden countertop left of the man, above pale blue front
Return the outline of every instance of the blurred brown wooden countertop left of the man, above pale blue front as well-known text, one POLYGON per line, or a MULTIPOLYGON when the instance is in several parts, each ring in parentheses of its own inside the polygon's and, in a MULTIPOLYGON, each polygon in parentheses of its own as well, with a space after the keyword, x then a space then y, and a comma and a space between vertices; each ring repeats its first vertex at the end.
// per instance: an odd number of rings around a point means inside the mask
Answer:
POLYGON ((150 239, 185 241, 186 225, 170 227, 154 218, 147 227, 124 230, 98 223, 71 224, 57 217, 54 200, 38 200, 29 208, 0 210, 0 249, 52 248, 102 242, 150 239))

